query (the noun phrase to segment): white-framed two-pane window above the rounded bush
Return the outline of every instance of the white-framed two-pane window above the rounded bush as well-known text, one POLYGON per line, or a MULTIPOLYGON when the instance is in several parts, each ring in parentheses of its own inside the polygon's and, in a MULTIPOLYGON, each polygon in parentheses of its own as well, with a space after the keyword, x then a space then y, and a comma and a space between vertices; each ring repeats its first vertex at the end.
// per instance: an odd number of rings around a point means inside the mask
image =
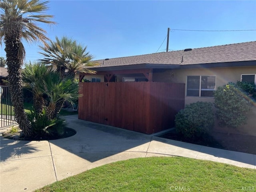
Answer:
POLYGON ((187 96, 213 97, 216 76, 188 76, 187 96))

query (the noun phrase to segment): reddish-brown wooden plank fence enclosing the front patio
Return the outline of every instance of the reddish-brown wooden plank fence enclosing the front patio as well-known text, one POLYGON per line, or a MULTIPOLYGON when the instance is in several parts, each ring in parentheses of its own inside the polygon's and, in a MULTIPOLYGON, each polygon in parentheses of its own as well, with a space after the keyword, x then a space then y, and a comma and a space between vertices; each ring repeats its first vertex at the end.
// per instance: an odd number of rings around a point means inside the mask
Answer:
POLYGON ((184 108, 185 84, 80 82, 79 88, 79 119, 146 134, 173 127, 184 108))

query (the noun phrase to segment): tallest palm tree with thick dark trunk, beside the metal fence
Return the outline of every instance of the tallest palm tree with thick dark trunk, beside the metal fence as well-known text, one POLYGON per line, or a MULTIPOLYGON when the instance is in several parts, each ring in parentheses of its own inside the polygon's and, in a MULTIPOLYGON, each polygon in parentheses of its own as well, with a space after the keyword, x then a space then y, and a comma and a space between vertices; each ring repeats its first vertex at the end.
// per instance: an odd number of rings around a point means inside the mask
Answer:
POLYGON ((26 117, 22 95, 22 64, 25 49, 22 39, 27 42, 48 40, 46 31, 39 23, 55 24, 52 15, 42 14, 48 10, 48 1, 2 0, 0 2, 0 43, 4 42, 8 81, 15 118, 25 137, 31 135, 31 124, 26 117))

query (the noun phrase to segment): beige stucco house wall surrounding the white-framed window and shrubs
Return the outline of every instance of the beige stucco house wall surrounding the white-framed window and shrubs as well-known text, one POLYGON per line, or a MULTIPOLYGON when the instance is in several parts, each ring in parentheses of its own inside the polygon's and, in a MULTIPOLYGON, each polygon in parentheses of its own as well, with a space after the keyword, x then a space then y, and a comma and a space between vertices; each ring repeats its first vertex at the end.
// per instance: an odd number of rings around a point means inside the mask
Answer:
MULTIPOLYGON (((200 69, 183 69, 183 70, 167 70, 163 73, 154 73, 153 81, 156 82, 177 82, 185 83, 187 76, 204 76, 216 75, 216 88, 227 84, 228 82, 237 82, 241 80, 242 74, 256 74, 256 66, 251 67, 229 67, 229 68, 200 68, 200 69)), ((185 96, 185 104, 197 101, 214 102, 214 98, 185 96)), ((215 130, 227 132, 227 129, 218 127, 216 120, 215 130)), ((256 136, 256 106, 248 115, 247 124, 233 130, 234 133, 248 134, 256 136)))

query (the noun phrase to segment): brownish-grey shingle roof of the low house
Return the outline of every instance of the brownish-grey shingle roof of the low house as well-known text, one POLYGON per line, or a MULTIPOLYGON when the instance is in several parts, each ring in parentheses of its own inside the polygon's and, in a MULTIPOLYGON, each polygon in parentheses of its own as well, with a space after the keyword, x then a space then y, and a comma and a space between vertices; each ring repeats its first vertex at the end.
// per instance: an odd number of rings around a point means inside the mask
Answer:
POLYGON ((204 48, 195 48, 191 51, 171 51, 146 55, 110 58, 109 60, 95 60, 98 67, 126 66, 135 64, 206 64, 237 61, 256 61, 256 41, 237 44, 228 44, 204 48), (183 56, 183 62, 182 61, 183 56), (103 64, 104 63, 104 64, 103 64))

